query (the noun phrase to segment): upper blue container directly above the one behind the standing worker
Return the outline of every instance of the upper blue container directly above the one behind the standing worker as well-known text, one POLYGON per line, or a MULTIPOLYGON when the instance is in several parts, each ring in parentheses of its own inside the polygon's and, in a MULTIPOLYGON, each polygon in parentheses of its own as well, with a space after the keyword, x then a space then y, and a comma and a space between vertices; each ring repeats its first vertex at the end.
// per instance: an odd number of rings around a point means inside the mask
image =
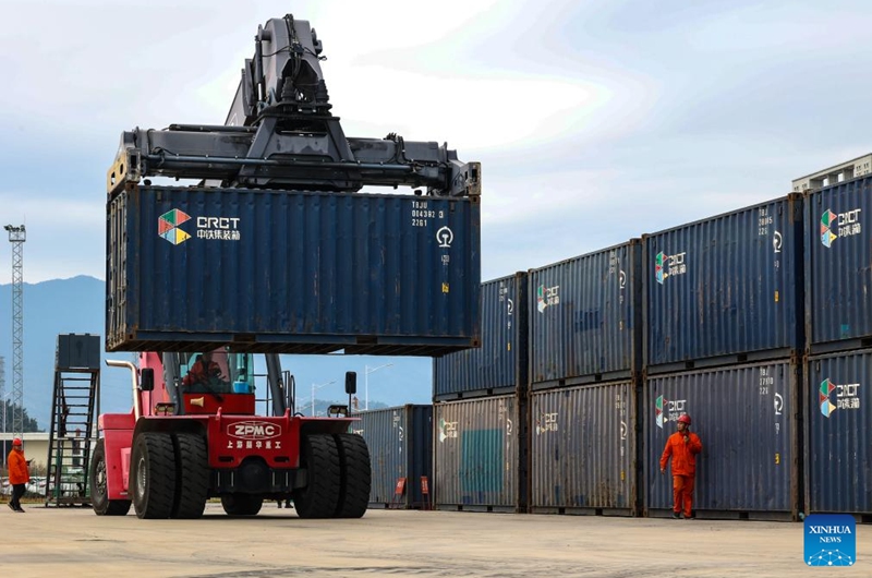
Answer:
MULTIPOLYGON (((802 347, 802 197, 644 237, 645 364, 789 357, 802 347)), ((699 366, 699 364, 697 364, 699 366)))

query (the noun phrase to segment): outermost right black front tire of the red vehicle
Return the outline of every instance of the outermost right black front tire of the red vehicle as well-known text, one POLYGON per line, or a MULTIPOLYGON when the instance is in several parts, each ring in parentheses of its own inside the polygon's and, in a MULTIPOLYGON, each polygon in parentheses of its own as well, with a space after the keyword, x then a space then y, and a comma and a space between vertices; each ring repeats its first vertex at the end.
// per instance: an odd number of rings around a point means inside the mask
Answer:
POLYGON ((366 441, 356 434, 336 434, 341 477, 335 518, 360 518, 370 505, 372 469, 366 441))

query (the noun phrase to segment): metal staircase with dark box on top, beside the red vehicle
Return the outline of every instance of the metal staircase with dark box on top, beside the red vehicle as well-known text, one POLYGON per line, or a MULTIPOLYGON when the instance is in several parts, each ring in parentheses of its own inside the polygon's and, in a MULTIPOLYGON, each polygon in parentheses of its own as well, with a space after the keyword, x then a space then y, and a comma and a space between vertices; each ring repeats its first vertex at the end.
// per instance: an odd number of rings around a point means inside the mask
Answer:
POLYGON ((46 506, 89 506, 88 466, 96 444, 100 338, 59 335, 48 442, 46 506))

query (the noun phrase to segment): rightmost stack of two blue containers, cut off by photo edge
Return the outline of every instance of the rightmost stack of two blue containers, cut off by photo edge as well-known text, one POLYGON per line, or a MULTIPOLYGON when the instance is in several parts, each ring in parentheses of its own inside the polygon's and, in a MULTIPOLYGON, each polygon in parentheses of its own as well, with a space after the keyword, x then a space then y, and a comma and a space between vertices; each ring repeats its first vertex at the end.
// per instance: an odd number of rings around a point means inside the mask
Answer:
POLYGON ((809 193, 806 202, 806 505, 872 514, 872 179, 809 193))

